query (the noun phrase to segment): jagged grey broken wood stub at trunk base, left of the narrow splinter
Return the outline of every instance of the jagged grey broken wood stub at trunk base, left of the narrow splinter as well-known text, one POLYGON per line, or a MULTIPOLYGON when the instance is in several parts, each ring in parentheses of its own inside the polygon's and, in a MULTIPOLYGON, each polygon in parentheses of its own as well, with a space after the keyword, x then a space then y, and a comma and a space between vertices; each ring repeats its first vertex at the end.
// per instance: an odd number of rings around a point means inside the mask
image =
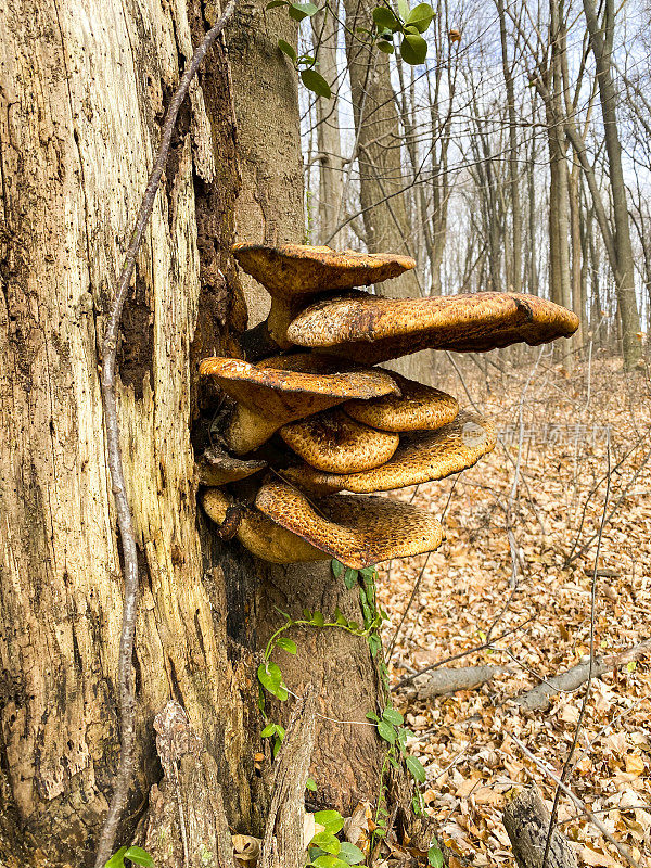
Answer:
POLYGON ((145 848, 157 868, 234 868, 215 760, 177 702, 154 729, 164 778, 150 792, 145 848))

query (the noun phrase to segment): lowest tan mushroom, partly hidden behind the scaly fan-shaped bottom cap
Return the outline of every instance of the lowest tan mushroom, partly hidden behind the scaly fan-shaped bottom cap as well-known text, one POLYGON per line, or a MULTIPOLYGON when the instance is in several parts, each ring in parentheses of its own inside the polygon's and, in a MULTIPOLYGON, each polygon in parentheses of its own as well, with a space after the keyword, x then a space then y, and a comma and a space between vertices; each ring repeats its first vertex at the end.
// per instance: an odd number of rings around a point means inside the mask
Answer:
MULTIPOLYGON (((224 524, 232 500, 220 488, 206 488, 202 494, 202 505, 216 524, 224 524)), ((243 507, 235 536, 252 554, 271 563, 298 563, 302 561, 324 561, 329 556, 306 542, 291 531, 285 531, 257 509, 243 507)))

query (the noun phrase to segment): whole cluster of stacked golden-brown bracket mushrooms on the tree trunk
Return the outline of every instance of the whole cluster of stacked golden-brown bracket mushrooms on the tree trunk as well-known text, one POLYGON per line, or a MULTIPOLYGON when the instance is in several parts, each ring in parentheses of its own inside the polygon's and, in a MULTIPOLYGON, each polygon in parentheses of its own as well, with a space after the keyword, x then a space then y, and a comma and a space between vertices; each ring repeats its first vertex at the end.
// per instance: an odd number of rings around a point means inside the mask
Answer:
POLYGON ((357 289, 413 268, 406 256, 254 244, 233 253, 271 295, 279 354, 200 366, 229 399, 221 445, 197 462, 220 536, 276 563, 336 558, 354 569, 436 549, 434 516, 373 493, 472 467, 495 431, 452 396, 372 366, 425 348, 542 344, 572 335, 576 316, 515 293, 387 298, 357 289))

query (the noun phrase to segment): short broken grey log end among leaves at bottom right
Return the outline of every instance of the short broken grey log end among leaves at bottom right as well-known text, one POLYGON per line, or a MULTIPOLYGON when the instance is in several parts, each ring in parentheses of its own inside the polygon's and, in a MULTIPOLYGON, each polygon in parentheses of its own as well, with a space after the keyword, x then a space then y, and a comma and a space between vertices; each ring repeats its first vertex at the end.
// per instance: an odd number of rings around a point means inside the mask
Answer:
MULTIPOLYGON (((521 790, 505 805, 502 820, 519 868, 542 868, 549 819, 535 786, 521 790)), ((577 868, 574 851, 558 828, 552 832, 547 868, 577 868)))

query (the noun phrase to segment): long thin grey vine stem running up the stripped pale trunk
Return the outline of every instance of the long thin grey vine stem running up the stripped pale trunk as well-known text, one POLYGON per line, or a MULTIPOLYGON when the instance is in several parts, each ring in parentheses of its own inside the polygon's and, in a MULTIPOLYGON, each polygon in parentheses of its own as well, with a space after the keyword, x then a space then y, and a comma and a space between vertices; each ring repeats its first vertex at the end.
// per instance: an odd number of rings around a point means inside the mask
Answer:
POLYGON ((190 89, 190 84, 194 78, 206 53, 224 30, 227 23, 235 11, 235 0, 229 0, 224 14, 217 23, 206 33, 203 41, 195 50, 190 64, 187 66, 178 88, 169 103, 163 124, 161 144, 154 166, 150 174, 140 209, 136 218, 136 225, 131 233, 129 246, 125 256, 125 261, 117 282, 117 290, 108 311, 108 321, 101 352, 101 390, 102 403, 104 406, 104 426, 106 430, 106 451, 108 457, 108 469, 111 471, 111 483, 113 497, 115 499, 115 512, 117 525, 119 527, 120 548, 123 554, 124 575, 125 575, 125 596, 122 631, 119 638, 118 655, 118 701, 120 716, 120 756, 117 775, 108 813, 102 827, 98 852, 95 857, 95 868, 103 868, 113 853, 115 833, 117 825, 124 813, 129 793, 129 784, 133 775, 133 748, 136 742, 136 695, 133 691, 133 679, 131 674, 131 658, 133 654, 133 638, 136 634, 136 616, 138 613, 138 546, 133 531, 133 519, 127 498, 124 467, 122 460, 122 449, 119 444, 119 422, 117 418, 117 398, 115 392, 115 371, 117 342, 123 308, 131 277, 136 267, 136 258, 142 244, 144 230, 149 224, 156 192, 161 183, 161 178, 167 164, 171 135, 176 125, 179 110, 190 89))

